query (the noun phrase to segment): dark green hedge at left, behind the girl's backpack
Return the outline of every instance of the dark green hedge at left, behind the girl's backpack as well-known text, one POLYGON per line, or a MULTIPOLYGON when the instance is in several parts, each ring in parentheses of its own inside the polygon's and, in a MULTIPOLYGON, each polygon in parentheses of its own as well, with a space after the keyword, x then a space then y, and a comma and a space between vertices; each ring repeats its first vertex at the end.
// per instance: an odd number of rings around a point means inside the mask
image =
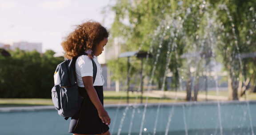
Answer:
POLYGON ((54 54, 17 49, 11 57, 0 56, 0 98, 50 98, 54 71, 64 60, 54 54))

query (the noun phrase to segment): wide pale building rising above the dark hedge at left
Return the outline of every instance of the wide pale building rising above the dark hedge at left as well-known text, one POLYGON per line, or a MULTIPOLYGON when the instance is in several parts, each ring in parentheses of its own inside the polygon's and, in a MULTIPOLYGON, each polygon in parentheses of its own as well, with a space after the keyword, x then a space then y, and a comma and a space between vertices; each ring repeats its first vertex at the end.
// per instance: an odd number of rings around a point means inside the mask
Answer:
POLYGON ((28 43, 28 42, 16 42, 11 46, 11 50, 19 48, 24 51, 34 51, 36 50, 39 53, 42 53, 42 43, 28 43))

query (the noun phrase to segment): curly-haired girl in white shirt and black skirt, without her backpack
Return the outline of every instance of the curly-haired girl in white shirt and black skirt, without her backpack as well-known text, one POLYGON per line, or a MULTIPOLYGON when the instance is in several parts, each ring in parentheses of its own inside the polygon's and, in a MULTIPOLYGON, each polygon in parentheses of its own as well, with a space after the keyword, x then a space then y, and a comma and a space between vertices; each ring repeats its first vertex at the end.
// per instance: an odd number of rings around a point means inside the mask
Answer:
POLYGON ((96 59, 104 51, 107 42, 106 28, 98 22, 88 21, 78 25, 61 44, 66 58, 79 56, 76 60, 76 79, 84 100, 80 112, 72 117, 69 124, 68 132, 73 135, 110 135, 110 118, 103 106, 104 78, 96 59), (80 56, 83 52, 88 55, 80 56), (92 60, 97 67, 94 83, 92 60))

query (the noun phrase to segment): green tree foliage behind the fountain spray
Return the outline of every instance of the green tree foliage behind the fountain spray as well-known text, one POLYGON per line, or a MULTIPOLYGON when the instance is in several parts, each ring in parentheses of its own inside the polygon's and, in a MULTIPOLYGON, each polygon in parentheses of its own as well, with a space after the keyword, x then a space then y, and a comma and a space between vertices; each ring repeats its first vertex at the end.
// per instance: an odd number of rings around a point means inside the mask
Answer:
MULTIPOLYGON (((244 80, 250 77, 256 82, 252 58, 237 57, 256 51, 255 8, 255 0, 116 0, 112 7, 116 15, 112 36, 124 41, 121 52, 140 48, 152 53, 153 58, 146 63, 146 75, 154 72, 153 80, 159 86, 168 63, 168 43, 174 47, 168 68, 175 85, 180 76, 189 81, 191 75, 204 75, 212 60, 223 63, 233 81, 243 74, 244 80), (185 53, 199 53, 200 57, 181 58, 185 53), (196 71, 190 74, 189 67, 196 71)), ((139 65, 133 65, 138 69, 139 65)), ((117 64, 112 66, 118 69, 117 64)), ((116 71, 114 75, 125 73, 116 71)))

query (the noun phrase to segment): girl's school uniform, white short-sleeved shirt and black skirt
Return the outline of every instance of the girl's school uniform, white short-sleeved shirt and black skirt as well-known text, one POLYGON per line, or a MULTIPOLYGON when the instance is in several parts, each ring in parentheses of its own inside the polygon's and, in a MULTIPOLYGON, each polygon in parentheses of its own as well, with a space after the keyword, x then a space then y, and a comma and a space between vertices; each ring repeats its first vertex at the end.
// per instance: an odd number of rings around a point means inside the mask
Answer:
MULTIPOLYGON (((100 102, 103 104, 103 84, 105 81, 102 75, 102 68, 100 67, 97 57, 94 56, 93 60, 97 67, 93 87, 97 92, 100 102)), ((84 99, 80 111, 71 118, 68 131, 69 133, 95 135, 102 134, 109 130, 108 125, 102 123, 96 107, 92 103, 86 89, 84 88, 82 77, 93 76, 92 74, 92 60, 86 55, 79 56, 76 60, 76 79, 79 86, 80 95, 83 96, 84 99)))

